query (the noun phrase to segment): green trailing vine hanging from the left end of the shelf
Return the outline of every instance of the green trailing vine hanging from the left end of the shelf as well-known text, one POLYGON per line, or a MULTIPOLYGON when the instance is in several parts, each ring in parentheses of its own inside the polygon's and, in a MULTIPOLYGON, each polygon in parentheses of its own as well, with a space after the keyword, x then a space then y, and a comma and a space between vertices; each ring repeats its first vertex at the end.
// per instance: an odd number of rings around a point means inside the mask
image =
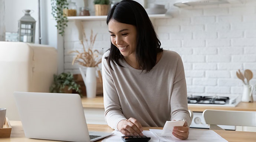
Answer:
POLYGON ((63 9, 68 9, 67 0, 51 0, 52 6, 52 16, 55 18, 57 22, 57 29, 59 30, 59 34, 61 36, 64 35, 65 27, 67 27, 68 18, 66 15, 63 15, 63 9))

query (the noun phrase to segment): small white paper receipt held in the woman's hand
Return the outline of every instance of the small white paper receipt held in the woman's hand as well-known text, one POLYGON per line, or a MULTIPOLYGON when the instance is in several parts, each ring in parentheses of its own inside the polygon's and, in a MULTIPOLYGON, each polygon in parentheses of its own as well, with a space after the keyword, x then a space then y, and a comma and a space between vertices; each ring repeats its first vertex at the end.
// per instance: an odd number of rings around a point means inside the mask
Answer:
POLYGON ((175 126, 183 126, 185 123, 185 120, 181 121, 166 121, 164 124, 163 132, 161 133, 161 136, 170 136, 173 132, 173 128, 175 126))

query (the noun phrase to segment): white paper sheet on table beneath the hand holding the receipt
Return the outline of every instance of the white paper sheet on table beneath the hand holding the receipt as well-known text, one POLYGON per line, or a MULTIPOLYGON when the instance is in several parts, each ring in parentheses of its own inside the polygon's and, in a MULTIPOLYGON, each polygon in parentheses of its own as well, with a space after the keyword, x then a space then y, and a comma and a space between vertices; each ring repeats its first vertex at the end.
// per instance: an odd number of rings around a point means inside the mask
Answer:
POLYGON ((161 129, 150 129, 150 131, 160 139, 159 142, 228 142, 212 130, 190 129, 186 140, 180 140, 174 135, 162 136, 163 130, 161 129))

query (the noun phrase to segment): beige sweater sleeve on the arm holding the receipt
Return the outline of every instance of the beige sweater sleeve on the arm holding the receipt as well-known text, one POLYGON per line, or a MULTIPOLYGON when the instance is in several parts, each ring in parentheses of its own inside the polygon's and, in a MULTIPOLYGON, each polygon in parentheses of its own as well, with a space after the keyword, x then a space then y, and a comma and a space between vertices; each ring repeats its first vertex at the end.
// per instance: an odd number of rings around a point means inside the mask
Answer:
MULTIPOLYGON (((179 56, 179 55, 178 55, 179 56)), ((171 120, 183 120, 191 124, 190 114, 187 106, 187 87, 184 73, 184 67, 179 56, 177 60, 177 67, 173 82, 173 89, 171 95, 171 120)))

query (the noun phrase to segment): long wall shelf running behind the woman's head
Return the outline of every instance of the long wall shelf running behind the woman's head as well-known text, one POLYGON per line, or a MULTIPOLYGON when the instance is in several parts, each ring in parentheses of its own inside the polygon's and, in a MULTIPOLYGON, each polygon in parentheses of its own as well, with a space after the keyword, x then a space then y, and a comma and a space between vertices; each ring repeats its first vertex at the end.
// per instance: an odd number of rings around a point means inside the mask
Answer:
MULTIPOLYGON (((150 18, 170 18, 171 15, 168 14, 150 14, 148 15, 150 18)), ((107 16, 68 16, 68 20, 106 20, 107 16)))

